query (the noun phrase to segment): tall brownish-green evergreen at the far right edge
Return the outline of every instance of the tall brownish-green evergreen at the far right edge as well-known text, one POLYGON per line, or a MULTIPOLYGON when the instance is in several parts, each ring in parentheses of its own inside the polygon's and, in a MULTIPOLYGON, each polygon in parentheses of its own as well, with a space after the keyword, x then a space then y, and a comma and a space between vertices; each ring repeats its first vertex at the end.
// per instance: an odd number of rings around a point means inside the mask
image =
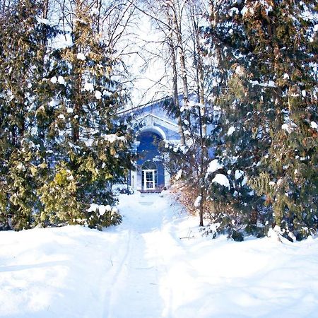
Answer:
POLYGON ((243 21, 259 59, 256 85, 266 83, 269 107, 261 117, 270 143, 251 184, 266 195, 283 232, 306 237, 317 231, 318 2, 265 1, 247 10, 243 21))

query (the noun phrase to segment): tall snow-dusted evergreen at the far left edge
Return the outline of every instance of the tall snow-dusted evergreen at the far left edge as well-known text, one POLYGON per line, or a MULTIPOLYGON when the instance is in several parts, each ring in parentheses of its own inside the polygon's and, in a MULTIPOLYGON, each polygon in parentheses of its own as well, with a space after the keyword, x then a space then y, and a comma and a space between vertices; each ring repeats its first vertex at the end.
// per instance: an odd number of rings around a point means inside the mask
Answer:
MULTIPOLYGON (((16 1, 6 8, 0 30, 1 223, 30 227, 38 211, 36 195, 40 143, 35 113, 42 96, 45 39, 54 32, 39 23, 40 1, 16 1)), ((43 145, 43 144, 42 144, 43 145)))

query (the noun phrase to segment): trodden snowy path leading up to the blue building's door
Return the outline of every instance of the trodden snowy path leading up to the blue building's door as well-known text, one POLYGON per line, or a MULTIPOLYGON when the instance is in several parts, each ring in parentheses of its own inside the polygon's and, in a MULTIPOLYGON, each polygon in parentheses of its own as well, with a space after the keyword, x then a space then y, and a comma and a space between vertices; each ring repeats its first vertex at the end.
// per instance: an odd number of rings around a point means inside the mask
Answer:
MULTIPOLYGON (((161 299, 160 277, 167 274, 165 249, 171 250, 175 242, 172 240, 169 242, 172 244, 166 245, 170 239, 166 228, 173 212, 165 209, 162 204, 159 204, 159 209, 155 208, 158 199, 162 201, 158 194, 141 196, 139 206, 134 206, 134 211, 127 211, 123 225, 117 228, 128 233, 124 242, 127 252, 114 276, 114 288, 104 311, 108 313, 105 317, 155 318, 171 315, 170 285, 163 286, 165 294, 168 295, 165 308, 158 300, 161 299)), ((124 206, 122 209, 125 209, 124 206)))

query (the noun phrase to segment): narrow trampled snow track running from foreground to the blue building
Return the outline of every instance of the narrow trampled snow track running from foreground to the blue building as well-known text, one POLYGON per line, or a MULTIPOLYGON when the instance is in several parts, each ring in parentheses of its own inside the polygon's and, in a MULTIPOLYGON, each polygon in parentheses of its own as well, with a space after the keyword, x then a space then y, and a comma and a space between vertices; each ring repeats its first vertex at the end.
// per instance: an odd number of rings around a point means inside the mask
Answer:
MULTIPOLYGON (((145 317, 145 313, 147 317, 160 317, 158 271, 162 264, 158 264, 158 259, 148 259, 148 238, 159 230, 163 214, 153 205, 153 196, 146 199, 150 204, 138 202, 134 208, 126 206, 124 224, 117 228, 125 233, 121 244, 125 252, 114 259, 115 266, 118 264, 117 273, 112 284, 114 288, 105 302, 105 317, 145 317)), ((145 200, 140 198, 139 201, 145 200)), ((124 202, 121 209, 125 210, 123 205, 124 202)))

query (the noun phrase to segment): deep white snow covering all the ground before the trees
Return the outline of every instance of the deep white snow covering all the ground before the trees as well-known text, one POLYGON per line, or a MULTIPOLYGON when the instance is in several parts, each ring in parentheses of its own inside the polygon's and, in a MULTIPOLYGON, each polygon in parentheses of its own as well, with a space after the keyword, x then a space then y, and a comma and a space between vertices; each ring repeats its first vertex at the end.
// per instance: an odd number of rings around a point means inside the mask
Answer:
POLYGON ((1 317, 317 317, 318 239, 200 237, 167 194, 122 225, 0 232, 1 317))

